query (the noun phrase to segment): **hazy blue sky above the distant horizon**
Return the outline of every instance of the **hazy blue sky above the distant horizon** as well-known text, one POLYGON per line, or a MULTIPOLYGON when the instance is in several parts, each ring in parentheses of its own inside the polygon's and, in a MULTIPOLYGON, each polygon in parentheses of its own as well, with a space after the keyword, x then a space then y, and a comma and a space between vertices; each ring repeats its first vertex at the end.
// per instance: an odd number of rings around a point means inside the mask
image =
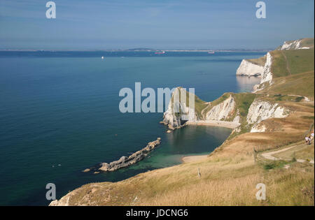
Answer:
POLYGON ((314 0, 0 0, 0 49, 269 49, 314 37, 314 0))

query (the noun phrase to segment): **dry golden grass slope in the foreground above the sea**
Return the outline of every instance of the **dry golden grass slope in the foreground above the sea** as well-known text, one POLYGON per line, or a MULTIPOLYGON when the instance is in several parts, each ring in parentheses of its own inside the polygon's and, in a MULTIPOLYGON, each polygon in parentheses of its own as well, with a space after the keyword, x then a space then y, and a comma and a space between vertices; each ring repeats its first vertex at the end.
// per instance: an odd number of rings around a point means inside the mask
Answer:
POLYGON ((69 205, 314 205, 314 167, 301 166, 264 170, 252 156, 210 157, 122 182, 87 184, 69 205), (267 186, 264 201, 255 198, 260 182, 267 186))

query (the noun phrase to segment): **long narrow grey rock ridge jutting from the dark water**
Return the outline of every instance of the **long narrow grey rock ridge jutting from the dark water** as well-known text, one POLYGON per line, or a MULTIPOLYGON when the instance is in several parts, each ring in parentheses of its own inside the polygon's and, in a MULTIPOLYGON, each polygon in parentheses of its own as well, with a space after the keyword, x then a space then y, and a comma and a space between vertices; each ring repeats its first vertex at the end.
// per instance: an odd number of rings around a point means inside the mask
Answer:
POLYGON ((99 168, 99 170, 107 172, 107 171, 115 171, 120 168, 131 166, 132 164, 143 160, 148 155, 148 153, 151 152, 153 149, 155 149, 155 147, 160 145, 160 143, 161 143, 161 138, 158 138, 157 140, 153 142, 148 142, 148 145, 146 145, 146 147, 135 152, 134 154, 130 156, 122 156, 118 161, 113 161, 111 163, 101 163, 101 167, 99 168))

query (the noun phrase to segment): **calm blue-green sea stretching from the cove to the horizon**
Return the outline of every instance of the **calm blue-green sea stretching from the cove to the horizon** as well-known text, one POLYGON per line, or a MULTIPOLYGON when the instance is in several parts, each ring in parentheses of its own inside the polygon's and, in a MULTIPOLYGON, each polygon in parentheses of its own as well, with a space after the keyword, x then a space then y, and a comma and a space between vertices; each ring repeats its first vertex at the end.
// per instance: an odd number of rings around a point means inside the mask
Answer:
POLYGON ((119 111, 123 87, 195 88, 204 101, 250 91, 255 78, 236 77, 241 59, 264 52, 0 52, 0 205, 48 205, 89 182, 118 181, 209 154, 230 129, 189 126, 165 133, 162 113, 119 111), (102 60, 100 57, 104 56, 102 60), (113 173, 81 170, 110 162, 162 138, 144 161, 113 173))

